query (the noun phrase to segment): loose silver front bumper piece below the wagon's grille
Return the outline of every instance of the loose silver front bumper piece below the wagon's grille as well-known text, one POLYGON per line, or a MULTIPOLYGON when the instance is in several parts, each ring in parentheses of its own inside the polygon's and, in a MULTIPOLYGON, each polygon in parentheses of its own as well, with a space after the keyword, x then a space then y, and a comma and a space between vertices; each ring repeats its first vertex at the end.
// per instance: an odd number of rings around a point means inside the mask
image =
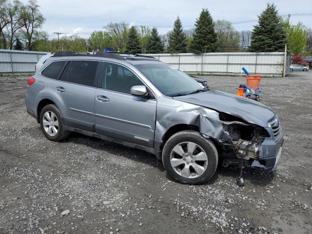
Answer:
POLYGON ((254 160, 252 166, 263 168, 266 171, 270 171, 276 167, 282 153, 284 142, 284 131, 282 127, 280 128, 281 130, 277 137, 274 137, 272 128, 266 128, 271 137, 265 138, 262 142, 259 150, 259 158, 254 160))

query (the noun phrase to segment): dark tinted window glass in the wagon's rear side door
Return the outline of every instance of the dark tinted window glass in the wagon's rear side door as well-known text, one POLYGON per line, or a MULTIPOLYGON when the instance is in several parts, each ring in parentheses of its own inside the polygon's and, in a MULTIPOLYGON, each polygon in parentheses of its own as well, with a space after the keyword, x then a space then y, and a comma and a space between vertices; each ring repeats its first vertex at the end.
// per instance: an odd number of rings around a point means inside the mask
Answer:
POLYGON ((68 82, 95 86, 98 61, 72 61, 68 82))

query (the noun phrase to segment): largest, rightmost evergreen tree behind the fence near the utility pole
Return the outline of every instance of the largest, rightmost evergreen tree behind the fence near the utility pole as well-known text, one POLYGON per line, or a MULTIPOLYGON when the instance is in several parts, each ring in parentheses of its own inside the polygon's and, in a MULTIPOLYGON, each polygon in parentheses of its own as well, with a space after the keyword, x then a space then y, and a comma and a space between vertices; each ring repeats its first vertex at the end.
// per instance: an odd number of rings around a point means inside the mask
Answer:
POLYGON ((254 26, 248 52, 284 51, 286 43, 285 23, 278 15, 276 6, 268 4, 254 26))

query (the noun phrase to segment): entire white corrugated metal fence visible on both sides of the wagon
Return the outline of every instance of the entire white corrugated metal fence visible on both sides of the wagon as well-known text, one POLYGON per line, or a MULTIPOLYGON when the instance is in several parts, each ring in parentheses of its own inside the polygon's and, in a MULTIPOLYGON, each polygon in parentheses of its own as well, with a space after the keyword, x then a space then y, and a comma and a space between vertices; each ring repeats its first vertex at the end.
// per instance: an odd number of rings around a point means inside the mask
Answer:
MULTIPOLYGON (((0 73, 33 73, 34 67, 46 52, 0 50, 0 73)), ((240 74, 245 67, 251 74, 283 76, 284 53, 204 53, 204 54, 149 54, 186 73, 240 74)), ((286 59, 285 74, 289 74, 290 57, 286 59)))

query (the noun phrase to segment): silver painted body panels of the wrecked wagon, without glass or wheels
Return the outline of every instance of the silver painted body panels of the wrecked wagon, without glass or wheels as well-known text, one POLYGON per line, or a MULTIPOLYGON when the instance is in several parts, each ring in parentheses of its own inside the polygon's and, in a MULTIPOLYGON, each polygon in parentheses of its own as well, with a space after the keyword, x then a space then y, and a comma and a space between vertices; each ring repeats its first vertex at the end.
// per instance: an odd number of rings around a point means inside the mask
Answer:
MULTIPOLYGON (((51 57, 39 69, 34 78, 44 82, 44 89, 38 85, 28 87, 26 107, 33 116, 38 116, 39 101, 47 98, 53 100, 63 114, 65 124, 76 123, 79 129, 88 133, 98 133, 126 142, 148 147, 148 152, 161 150, 165 133, 177 124, 195 125, 206 137, 218 139, 223 128, 218 112, 240 117, 250 123, 265 127, 271 136, 272 129, 268 120, 275 115, 274 111, 259 102, 247 98, 238 98, 227 93, 210 91, 182 97, 167 97, 147 79, 134 64, 161 63, 160 61, 117 60, 103 57, 51 57), (154 93, 155 99, 139 98, 109 90, 87 87, 69 82, 44 78, 41 71, 55 60, 90 59, 114 62, 126 66, 141 79, 154 93), (57 87, 66 89, 66 94, 57 91, 57 87), (79 95, 77 95, 79 94, 79 95), (98 96, 109 101, 101 102, 98 96), (77 124, 78 123, 78 124, 77 124)), ((72 125, 74 126, 74 125, 72 125)), ((71 128, 71 130, 74 130, 71 128)), ((266 139, 262 144, 262 157, 275 157, 281 146, 283 133, 278 139, 266 139), (268 146, 264 144, 268 142, 268 146)))

